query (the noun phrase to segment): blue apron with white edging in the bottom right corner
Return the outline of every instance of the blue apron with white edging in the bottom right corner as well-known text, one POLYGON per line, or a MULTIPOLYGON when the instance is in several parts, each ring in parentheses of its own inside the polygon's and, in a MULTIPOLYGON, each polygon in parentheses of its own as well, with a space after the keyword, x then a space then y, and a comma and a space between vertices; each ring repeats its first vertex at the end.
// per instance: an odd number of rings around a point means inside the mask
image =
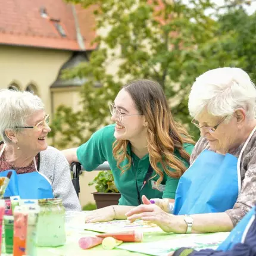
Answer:
POLYGON ((217 250, 229 251, 236 243, 243 243, 245 236, 255 219, 255 207, 236 225, 226 240, 218 246, 217 250))

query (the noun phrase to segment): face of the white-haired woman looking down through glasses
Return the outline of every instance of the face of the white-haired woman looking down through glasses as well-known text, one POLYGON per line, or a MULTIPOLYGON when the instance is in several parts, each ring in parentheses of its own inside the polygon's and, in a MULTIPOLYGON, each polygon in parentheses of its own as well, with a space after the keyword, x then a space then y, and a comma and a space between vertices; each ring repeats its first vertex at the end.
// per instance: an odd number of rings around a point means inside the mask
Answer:
POLYGON ((197 117, 200 128, 200 135, 207 139, 210 149, 226 154, 230 149, 235 148, 241 142, 241 122, 235 115, 232 117, 217 117, 211 115, 207 110, 203 110, 197 117), (216 126, 217 129, 212 132, 209 127, 216 126))

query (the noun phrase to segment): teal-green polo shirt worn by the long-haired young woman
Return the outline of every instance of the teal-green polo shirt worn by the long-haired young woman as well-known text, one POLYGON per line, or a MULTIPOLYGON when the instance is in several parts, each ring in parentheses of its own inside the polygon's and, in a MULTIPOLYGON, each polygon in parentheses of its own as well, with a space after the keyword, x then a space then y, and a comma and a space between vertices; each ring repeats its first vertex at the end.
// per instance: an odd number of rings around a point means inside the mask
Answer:
MULTIPOLYGON (((77 158, 79 162, 82 164, 83 168, 86 171, 92 171, 99 164, 104 163, 104 161, 108 161, 110 164, 111 171, 113 172, 115 186, 118 191, 121 193, 121 198, 119 200, 119 205, 133 205, 136 206, 139 204, 138 202, 138 192, 136 189, 136 179, 138 184, 138 189, 140 191, 143 180, 145 179, 146 173, 149 167, 149 155, 145 155, 143 158, 137 157, 131 151, 130 144, 127 148, 127 153, 132 157, 134 166, 131 165, 128 170, 126 170, 123 174, 121 174, 121 170, 117 167, 117 161, 113 157, 113 143, 115 141, 114 138, 114 129, 115 124, 110 124, 108 126, 103 127, 97 132, 93 133, 90 137, 89 141, 79 146, 77 149, 77 158), (134 170, 133 170, 134 167, 134 170), (136 172, 136 179, 135 179, 136 172)), ((184 143, 184 149, 186 152, 191 154, 193 145, 189 143, 184 143)), ((174 155, 177 158, 182 160, 183 164, 186 167, 189 167, 189 163, 180 157, 179 151, 174 150, 174 155)), ((128 160, 125 159, 121 166, 126 166, 128 160)), ((170 168, 170 170, 173 170, 170 168)), ((174 170, 173 170, 174 171, 174 170)), ((164 173, 164 171, 163 171, 164 173)), ((155 171, 153 171, 152 176, 155 175, 155 171)), ((154 177, 152 180, 146 183, 142 191, 140 192, 140 197, 145 195, 147 198, 175 198, 175 193, 177 189, 177 185, 179 179, 174 179, 172 177, 167 176, 164 173, 164 179, 161 182, 161 189, 158 190, 155 188, 154 182, 158 180, 159 176, 154 177)))

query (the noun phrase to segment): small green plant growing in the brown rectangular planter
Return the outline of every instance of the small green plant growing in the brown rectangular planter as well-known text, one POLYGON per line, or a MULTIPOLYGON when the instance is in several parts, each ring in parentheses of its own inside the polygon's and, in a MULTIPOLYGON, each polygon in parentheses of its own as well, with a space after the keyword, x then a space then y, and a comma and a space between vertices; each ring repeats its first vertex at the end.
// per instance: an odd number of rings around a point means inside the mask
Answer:
POLYGON ((118 190, 114 183, 114 177, 111 171, 99 171, 98 175, 88 183, 89 186, 95 185, 95 189, 98 192, 118 193, 118 190))

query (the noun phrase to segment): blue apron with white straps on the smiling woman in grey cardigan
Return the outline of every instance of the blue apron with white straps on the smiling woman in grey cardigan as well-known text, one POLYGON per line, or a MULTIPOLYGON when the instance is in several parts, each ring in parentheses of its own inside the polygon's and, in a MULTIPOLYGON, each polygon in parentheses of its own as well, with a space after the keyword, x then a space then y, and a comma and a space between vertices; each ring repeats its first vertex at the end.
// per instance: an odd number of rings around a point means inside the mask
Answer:
MULTIPOLYGON (((0 157, 4 149, 5 145, 0 152, 0 157)), ((36 171, 33 171, 33 173, 17 174, 15 170, 6 170, 0 173, 0 177, 5 177, 9 171, 13 172, 4 196, 19 195, 21 199, 54 198, 51 182, 45 175, 39 173, 35 158, 33 161, 36 168, 36 171)))

